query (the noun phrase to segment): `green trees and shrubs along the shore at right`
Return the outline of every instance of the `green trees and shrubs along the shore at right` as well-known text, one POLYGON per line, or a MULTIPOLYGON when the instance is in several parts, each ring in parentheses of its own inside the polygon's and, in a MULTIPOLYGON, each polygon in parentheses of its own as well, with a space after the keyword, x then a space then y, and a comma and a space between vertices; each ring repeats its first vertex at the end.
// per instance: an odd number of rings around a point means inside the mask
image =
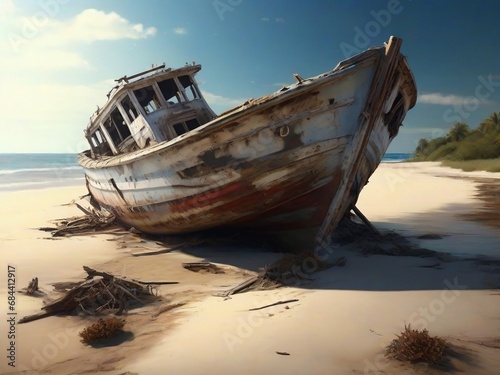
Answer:
POLYGON ((443 137, 420 139, 413 160, 464 161, 496 158, 500 158, 500 112, 493 112, 475 129, 471 129, 465 122, 456 122, 443 137))

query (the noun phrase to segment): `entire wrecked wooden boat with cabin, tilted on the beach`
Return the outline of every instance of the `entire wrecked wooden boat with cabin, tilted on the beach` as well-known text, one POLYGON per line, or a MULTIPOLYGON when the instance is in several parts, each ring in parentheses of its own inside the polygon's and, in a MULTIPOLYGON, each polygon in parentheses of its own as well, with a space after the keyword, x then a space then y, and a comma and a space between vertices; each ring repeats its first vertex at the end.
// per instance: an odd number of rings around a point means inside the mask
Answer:
POLYGON ((200 65, 117 80, 78 157, 92 199, 151 234, 245 228, 319 246, 354 208, 415 105, 391 37, 333 70, 217 116, 200 65))

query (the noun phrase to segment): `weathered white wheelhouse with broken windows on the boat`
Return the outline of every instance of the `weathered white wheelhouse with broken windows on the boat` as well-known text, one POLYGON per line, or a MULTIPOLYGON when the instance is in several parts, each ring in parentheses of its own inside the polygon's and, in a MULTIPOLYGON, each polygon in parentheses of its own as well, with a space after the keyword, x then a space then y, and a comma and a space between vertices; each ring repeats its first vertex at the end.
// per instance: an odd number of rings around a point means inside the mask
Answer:
POLYGON ((117 79, 85 131, 92 158, 169 141, 214 119, 194 77, 200 69, 194 63, 175 70, 161 65, 117 79))

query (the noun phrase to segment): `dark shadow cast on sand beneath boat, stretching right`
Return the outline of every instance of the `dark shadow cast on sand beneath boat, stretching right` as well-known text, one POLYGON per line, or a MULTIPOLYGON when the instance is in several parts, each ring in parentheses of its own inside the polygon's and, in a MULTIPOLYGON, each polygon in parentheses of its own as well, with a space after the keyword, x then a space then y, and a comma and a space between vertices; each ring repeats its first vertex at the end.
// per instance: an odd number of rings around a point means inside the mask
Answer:
MULTIPOLYGON (((263 289, 404 291, 500 287, 500 260, 486 256, 457 256, 421 247, 446 235, 403 236, 394 230, 372 231, 345 219, 330 246, 288 253, 271 240, 247 232, 210 231, 191 236, 163 237, 173 246, 204 262, 236 267, 265 279, 263 289)), ((146 236, 146 240, 151 240, 146 236)), ((158 242, 157 242, 158 243, 158 242)), ((160 250, 161 251, 161 250, 160 250)), ((256 283, 255 288, 262 288, 256 283)))

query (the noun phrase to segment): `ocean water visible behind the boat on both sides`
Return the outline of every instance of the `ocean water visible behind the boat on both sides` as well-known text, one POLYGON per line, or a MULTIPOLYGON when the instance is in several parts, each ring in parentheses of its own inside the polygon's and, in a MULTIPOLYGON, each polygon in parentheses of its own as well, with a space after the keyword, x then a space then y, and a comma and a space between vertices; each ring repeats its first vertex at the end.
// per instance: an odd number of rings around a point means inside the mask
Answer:
MULTIPOLYGON (((388 153, 382 162, 400 162, 411 154, 388 153)), ((85 184, 75 154, 0 154, 0 191, 85 184)))

